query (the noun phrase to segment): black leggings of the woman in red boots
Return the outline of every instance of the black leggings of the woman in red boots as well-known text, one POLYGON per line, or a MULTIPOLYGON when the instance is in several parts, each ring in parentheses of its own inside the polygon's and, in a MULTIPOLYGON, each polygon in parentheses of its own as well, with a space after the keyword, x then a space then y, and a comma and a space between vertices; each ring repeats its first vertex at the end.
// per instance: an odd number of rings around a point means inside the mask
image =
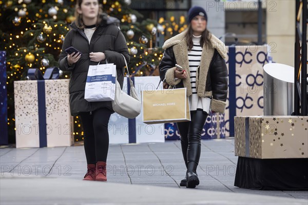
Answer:
POLYGON ((112 112, 102 108, 81 113, 84 128, 84 147, 88 164, 106 161, 109 147, 108 122, 112 112))

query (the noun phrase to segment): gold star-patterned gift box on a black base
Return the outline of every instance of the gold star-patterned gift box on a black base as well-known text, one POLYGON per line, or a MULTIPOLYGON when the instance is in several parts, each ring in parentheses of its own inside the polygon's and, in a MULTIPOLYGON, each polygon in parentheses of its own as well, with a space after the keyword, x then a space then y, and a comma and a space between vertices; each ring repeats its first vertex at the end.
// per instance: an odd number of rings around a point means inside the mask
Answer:
POLYGON ((235 155, 308 158, 308 116, 236 116, 235 155))

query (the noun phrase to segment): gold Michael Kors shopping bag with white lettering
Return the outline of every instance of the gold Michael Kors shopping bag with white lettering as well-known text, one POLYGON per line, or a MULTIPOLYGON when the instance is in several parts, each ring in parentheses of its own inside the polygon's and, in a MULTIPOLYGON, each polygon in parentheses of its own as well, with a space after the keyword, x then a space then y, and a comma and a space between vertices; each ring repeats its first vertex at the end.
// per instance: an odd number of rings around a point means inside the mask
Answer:
POLYGON ((190 121, 186 88, 143 90, 142 111, 145 124, 190 121))

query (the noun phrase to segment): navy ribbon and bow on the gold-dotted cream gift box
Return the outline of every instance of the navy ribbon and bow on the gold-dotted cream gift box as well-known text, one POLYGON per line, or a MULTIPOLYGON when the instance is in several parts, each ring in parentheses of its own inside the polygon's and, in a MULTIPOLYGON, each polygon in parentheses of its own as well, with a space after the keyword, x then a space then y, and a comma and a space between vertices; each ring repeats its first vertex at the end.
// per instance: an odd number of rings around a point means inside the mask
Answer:
POLYGON ((45 80, 59 79, 59 68, 51 67, 45 70, 44 75, 37 68, 30 68, 28 75, 30 80, 37 80, 37 104, 38 104, 38 130, 40 132, 40 148, 47 147, 47 123, 46 123, 46 100, 45 80))

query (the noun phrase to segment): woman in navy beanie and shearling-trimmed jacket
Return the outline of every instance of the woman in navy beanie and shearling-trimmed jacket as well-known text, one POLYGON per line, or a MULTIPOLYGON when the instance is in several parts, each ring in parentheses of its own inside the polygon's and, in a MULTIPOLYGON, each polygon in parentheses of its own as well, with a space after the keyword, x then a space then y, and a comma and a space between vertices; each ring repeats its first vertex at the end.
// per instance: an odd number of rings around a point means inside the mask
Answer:
POLYGON ((203 8, 188 11, 188 28, 168 39, 159 65, 160 78, 176 88, 186 88, 191 121, 178 122, 182 153, 187 168, 180 185, 199 185, 197 167, 201 153, 201 133, 209 110, 224 113, 227 99, 227 67, 225 45, 206 29, 203 8), (180 71, 176 64, 183 68, 180 71))

